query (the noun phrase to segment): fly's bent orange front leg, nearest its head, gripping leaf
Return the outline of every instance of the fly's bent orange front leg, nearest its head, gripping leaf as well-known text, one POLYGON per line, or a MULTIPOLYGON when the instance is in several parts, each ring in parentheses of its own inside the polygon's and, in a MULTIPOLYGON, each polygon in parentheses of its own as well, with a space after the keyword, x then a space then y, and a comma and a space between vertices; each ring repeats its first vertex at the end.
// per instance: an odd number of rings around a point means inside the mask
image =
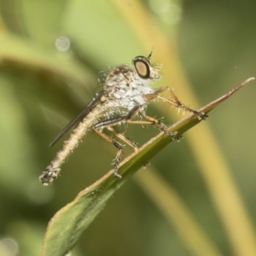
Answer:
POLYGON ((155 92, 154 92, 153 94, 148 94, 148 95, 145 96, 145 98, 146 98, 148 101, 153 100, 154 98, 159 98, 159 99, 161 99, 163 102, 167 102, 167 103, 171 104, 172 106, 175 106, 175 107, 178 108, 178 109, 183 109, 183 110, 188 111, 188 112, 190 112, 190 113, 195 113, 195 115, 197 116, 197 118, 198 118, 199 120, 201 120, 201 119, 204 120, 204 119, 207 118, 207 114, 206 114, 206 113, 201 112, 201 111, 197 111, 197 110, 195 110, 195 109, 193 109, 193 108, 189 108, 189 107, 187 107, 185 104, 183 104, 182 102, 180 102, 180 101, 178 100, 177 96, 175 95, 175 93, 173 92, 173 90, 172 90, 170 87, 168 87, 168 86, 166 86, 166 87, 161 87, 161 88, 159 88, 158 90, 155 90, 155 92), (172 98, 173 98, 173 101, 172 101, 172 100, 168 100, 168 99, 166 99, 166 98, 163 97, 163 96, 160 96, 160 93, 162 93, 162 92, 164 92, 164 91, 166 91, 166 90, 168 90, 168 91, 171 93, 171 96, 172 96, 172 98))

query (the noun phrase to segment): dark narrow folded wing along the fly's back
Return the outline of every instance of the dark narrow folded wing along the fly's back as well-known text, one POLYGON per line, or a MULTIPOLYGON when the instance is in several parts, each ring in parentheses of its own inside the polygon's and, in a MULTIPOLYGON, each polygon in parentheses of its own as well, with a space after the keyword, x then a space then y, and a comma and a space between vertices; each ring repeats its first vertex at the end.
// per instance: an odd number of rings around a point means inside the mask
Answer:
POLYGON ((73 125, 76 125, 81 119, 90 113, 91 109, 96 106, 103 95, 104 90, 99 92, 96 97, 82 109, 82 111, 55 137, 55 139, 49 144, 49 147, 53 146, 65 133, 67 133, 67 131, 73 127, 73 125))

